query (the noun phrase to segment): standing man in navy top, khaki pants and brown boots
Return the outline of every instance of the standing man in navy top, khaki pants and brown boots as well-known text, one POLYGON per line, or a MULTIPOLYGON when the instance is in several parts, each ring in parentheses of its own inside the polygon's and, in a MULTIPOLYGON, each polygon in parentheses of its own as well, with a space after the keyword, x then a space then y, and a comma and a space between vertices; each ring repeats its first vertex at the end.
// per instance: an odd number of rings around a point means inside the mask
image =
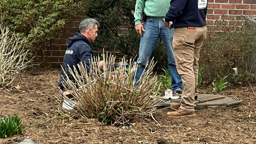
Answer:
POLYGON ((183 82, 180 103, 172 103, 173 112, 169 117, 196 116, 194 96, 198 79, 198 59, 200 48, 206 39, 207 0, 172 0, 163 23, 167 28, 175 28, 172 45, 175 62, 183 82))

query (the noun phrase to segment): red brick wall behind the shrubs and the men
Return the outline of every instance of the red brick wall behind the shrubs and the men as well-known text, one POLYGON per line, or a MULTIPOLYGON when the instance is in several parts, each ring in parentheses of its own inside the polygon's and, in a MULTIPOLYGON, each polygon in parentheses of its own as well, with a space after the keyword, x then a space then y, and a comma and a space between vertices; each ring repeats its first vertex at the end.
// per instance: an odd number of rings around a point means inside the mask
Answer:
MULTIPOLYGON (((81 14, 82 15, 82 14, 81 14)), ((243 21, 242 16, 256 15, 256 0, 208 0, 207 25, 212 27, 218 20, 224 20, 228 23, 229 20, 243 21)), ((44 66, 60 67, 62 64, 65 50, 67 49, 68 37, 74 36, 79 27, 81 17, 78 16, 66 27, 62 29, 59 36, 53 40, 44 66)), ((220 29, 217 29, 220 30, 220 29)))

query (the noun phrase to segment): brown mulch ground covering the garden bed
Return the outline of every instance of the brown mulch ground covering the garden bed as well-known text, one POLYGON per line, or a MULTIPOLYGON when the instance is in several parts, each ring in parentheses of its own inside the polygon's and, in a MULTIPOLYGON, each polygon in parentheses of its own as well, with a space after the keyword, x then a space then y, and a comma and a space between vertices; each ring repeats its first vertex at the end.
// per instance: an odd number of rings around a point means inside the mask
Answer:
MULTIPOLYGON (((218 94, 236 96, 244 103, 236 108, 220 107, 196 110, 196 117, 166 117, 170 108, 158 109, 156 121, 145 119, 132 126, 102 126, 89 119, 65 119, 59 116, 54 95, 59 68, 33 68, 21 73, 12 87, 0 89, 0 117, 17 114, 26 129, 21 135, 0 139, 0 144, 18 143, 29 137, 38 144, 53 143, 256 143, 256 84, 229 85, 218 94), (16 90, 14 86, 21 86, 16 90), (250 122, 251 121, 251 122, 250 122)), ((200 93, 211 93, 212 86, 200 93)))

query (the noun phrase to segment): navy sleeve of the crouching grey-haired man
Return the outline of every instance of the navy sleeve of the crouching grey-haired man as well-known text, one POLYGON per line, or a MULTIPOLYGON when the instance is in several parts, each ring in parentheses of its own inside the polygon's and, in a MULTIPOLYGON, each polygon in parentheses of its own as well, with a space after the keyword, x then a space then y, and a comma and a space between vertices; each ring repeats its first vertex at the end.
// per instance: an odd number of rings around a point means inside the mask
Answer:
POLYGON ((84 50, 81 51, 79 54, 79 60, 82 61, 87 73, 89 73, 91 69, 90 62, 92 60, 92 57, 94 56, 94 53, 90 50, 84 50))

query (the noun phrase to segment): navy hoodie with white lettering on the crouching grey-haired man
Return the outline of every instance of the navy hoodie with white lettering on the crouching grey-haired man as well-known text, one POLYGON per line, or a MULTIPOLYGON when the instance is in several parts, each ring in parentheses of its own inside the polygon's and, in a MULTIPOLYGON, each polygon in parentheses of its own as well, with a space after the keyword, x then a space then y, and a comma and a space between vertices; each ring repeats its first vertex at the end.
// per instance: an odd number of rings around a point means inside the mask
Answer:
MULTIPOLYGON (((83 62, 83 64, 85 62, 86 71, 89 72, 91 68, 90 68, 90 61, 88 59, 91 60, 91 58, 94 56, 94 52, 90 47, 89 40, 80 33, 76 33, 75 36, 68 38, 67 45, 68 45, 68 48, 64 55, 62 67, 66 71, 69 79, 72 79, 73 83, 76 83, 76 81, 74 80, 74 77, 70 74, 68 70, 67 64, 69 65, 70 68, 72 68, 72 71, 74 72, 73 65, 78 70, 77 64, 81 61, 83 62)), ((61 81, 63 81, 63 78, 65 79, 67 78, 63 72, 63 69, 60 72, 60 82, 58 83, 61 89, 64 88, 63 85, 61 84, 61 81)), ((78 70, 78 73, 79 75, 81 75, 79 70, 78 70)))

